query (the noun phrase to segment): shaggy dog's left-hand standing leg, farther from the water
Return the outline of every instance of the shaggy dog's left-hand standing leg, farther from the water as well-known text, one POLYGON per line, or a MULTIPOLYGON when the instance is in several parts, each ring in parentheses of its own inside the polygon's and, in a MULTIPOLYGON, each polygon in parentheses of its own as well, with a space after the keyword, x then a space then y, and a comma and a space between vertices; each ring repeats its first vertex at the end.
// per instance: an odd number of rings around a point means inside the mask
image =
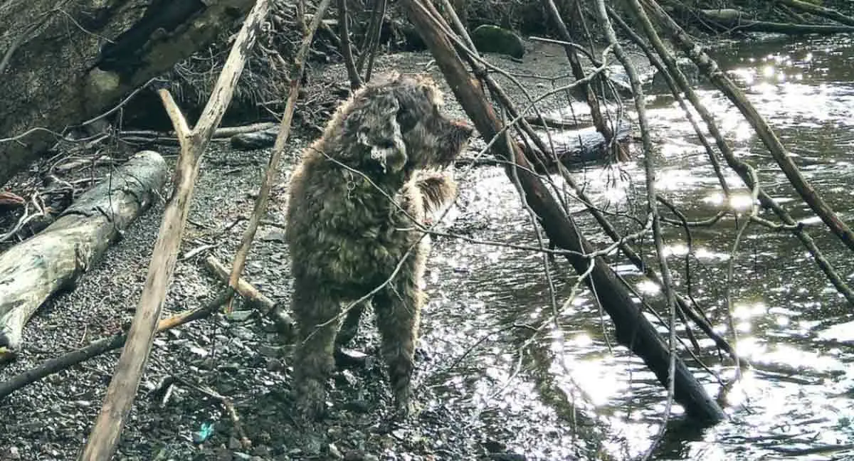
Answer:
POLYGON ((299 278, 294 281, 294 316, 299 329, 294 363, 294 391, 301 417, 325 412, 326 379, 335 367, 333 349, 340 300, 299 278))

